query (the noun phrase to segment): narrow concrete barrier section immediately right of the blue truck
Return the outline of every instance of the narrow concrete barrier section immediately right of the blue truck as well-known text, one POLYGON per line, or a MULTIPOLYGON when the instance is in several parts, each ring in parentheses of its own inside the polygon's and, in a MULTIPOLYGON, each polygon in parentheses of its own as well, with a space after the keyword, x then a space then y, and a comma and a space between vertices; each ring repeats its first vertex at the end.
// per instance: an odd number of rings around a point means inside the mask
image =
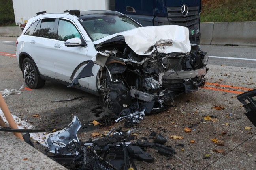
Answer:
POLYGON ((210 45, 213 39, 213 22, 205 22, 200 24, 201 28, 201 39, 200 44, 210 45))

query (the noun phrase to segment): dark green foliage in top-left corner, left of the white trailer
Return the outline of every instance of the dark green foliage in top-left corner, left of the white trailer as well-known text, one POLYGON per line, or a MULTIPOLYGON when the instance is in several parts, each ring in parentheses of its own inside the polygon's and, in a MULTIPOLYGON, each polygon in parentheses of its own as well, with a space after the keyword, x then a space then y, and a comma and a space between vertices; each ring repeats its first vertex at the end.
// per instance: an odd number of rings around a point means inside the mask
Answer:
POLYGON ((0 26, 15 22, 12 0, 0 0, 0 26))

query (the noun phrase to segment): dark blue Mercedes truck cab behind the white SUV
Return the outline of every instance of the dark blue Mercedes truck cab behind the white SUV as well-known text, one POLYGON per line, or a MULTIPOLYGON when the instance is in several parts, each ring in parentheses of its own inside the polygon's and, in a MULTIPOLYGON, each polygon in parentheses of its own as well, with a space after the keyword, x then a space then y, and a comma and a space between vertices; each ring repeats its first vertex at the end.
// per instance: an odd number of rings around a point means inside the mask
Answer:
POLYGON ((179 25, 189 29, 190 42, 200 43, 201 0, 109 0, 119 11, 143 26, 179 25))

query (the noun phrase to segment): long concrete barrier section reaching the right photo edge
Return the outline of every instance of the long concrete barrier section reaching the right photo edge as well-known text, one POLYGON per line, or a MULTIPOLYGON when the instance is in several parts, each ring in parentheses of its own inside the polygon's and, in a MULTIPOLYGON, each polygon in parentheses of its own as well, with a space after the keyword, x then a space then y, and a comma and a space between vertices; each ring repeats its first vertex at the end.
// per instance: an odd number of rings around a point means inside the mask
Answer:
POLYGON ((215 22, 211 45, 225 44, 256 46, 256 22, 215 22))

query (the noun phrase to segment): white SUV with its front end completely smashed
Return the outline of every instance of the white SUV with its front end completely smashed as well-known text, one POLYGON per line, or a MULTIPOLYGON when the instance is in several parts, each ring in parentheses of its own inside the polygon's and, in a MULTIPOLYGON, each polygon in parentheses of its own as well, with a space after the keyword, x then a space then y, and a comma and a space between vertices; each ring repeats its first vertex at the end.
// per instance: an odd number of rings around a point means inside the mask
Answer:
POLYGON ((205 83, 208 56, 188 28, 142 27, 115 11, 41 14, 17 39, 26 84, 57 81, 99 95, 115 115, 146 114, 205 83), (26 71, 25 71, 26 68, 26 71))

